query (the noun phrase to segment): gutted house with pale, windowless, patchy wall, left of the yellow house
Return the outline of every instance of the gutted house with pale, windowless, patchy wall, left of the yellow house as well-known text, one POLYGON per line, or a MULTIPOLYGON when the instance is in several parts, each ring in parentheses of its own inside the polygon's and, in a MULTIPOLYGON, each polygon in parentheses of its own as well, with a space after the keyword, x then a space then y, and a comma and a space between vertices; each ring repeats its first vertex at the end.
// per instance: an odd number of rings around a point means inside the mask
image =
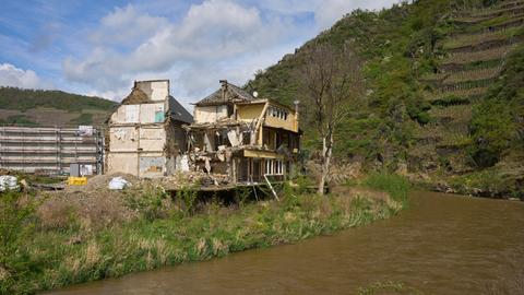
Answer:
POLYGON ((135 81, 108 126, 107 170, 155 178, 172 175, 193 120, 172 96, 169 80, 135 81))

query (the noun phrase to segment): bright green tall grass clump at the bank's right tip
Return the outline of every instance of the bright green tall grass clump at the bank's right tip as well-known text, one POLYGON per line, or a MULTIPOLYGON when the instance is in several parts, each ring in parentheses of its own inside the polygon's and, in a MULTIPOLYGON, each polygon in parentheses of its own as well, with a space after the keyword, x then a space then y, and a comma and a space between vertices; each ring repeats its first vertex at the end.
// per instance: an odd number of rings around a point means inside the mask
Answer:
POLYGON ((364 185, 390 193, 391 198, 396 202, 400 202, 403 206, 408 204, 408 193, 412 185, 407 178, 390 173, 377 173, 370 175, 364 185))

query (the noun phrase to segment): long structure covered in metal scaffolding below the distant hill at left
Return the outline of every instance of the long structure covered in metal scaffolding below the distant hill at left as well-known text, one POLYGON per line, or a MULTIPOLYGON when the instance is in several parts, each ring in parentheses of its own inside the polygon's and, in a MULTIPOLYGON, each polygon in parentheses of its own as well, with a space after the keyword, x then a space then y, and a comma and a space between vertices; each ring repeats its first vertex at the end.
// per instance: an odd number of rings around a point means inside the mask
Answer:
POLYGON ((104 132, 73 128, 0 127, 0 168, 45 175, 69 174, 71 164, 104 170, 104 132))

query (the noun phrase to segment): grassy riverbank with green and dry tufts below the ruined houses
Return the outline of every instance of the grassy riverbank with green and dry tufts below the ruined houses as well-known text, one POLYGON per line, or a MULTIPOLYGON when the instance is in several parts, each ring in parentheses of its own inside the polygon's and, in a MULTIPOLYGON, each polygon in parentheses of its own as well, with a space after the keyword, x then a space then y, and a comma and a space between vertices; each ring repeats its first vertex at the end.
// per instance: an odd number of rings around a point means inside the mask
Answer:
POLYGON ((171 199, 159 188, 143 188, 140 193, 122 193, 126 206, 136 213, 134 219, 104 224, 58 205, 60 210, 56 210, 61 213, 49 214, 47 208, 46 214, 38 214, 49 200, 34 203, 33 197, 4 194, 2 215, 10 216, 4 220, 13 224, 13 231, 22 228, 26 234, 11 241, 2 238, 2 243, 15 247, 2 252, 0 291, 14 294, 52 290, 365 225, 390 217, 406 204, 407 188, 400 188, 401 182, 388 186, 385 182, 392 179, 396 178, 380 175, 367 180, 369 187, 391 190, 391 198, 366 189, 319 197, 287 186, 279 202, 225 206, 212 201, 199 208, 192 205, 195 198, 189 191, 171 199), (5 196, 17 201, 4 202, 9 199, 5 196), (10 205, 29 210, 20 215, 10 205))

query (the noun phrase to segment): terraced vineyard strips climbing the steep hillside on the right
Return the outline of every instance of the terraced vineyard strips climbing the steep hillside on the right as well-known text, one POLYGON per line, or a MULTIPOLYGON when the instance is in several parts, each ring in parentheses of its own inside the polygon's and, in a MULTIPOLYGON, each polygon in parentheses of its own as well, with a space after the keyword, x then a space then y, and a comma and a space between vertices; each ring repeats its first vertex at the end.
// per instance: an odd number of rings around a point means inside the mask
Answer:
POLYGON ((426 166, 422 170, 443 166, 464 174, 472 170, 465 152, 472 142, 472 109, 499 79, 508 55, 524 44, 524 1, 458 11, 446 21, 453 30, 437 46, 438 72, 420 79, 431 120, 416 128, 409 154, 412 163, 426 166))

